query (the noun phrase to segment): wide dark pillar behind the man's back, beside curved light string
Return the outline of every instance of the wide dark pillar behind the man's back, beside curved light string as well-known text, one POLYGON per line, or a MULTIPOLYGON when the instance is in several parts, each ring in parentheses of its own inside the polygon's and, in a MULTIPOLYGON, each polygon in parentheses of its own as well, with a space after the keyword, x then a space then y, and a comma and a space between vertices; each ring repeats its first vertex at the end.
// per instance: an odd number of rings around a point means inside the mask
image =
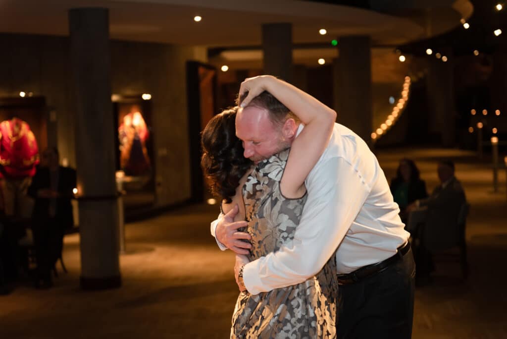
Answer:
POLYGON ((337 121, 371 145, 373 130, 371 39, 340 38, 334 63, 334 104, 337 121))

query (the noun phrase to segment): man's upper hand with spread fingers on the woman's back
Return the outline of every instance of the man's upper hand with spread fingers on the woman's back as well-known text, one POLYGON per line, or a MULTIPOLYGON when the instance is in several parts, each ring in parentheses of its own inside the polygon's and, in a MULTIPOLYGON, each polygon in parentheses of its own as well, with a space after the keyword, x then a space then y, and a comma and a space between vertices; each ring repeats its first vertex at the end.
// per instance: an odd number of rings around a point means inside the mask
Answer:
POLYGON ((215 236, 222 244, 228 249, 236 252, 237 254, 248 254, 249 248, 252 246, 250 243, 244 242, 241 239, 250 240, 250 234, 246 232, 238 232, 238 228, 246 227, 246 221, 234 222, 234 217, 238 214, 239 207, 235 205, 224 217, 216 224, 215 236))

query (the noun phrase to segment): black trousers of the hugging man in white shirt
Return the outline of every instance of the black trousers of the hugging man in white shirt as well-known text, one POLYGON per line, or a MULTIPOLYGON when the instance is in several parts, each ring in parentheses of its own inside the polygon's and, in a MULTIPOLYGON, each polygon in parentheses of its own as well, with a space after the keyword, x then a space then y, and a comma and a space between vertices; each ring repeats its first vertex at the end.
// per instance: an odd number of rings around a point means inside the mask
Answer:
POLYGON ((338 338, 407 339, 412 336, 415 263, 412 250, 381 273, 340 285, 338 338))

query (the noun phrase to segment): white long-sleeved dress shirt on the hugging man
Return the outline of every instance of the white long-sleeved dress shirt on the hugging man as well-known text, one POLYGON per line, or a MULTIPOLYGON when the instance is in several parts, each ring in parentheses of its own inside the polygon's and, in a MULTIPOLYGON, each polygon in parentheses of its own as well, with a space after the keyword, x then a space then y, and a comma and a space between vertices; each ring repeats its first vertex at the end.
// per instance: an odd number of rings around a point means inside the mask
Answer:
MULTIPOLYGON (((305 184, 308 199, 294 239, 243 269, 252 294, 307 280, 335 251, 337 273, 350 273, 389 258, 409 238, 377 158, 347 127, 335 123, 305 184)), ((217 222, 211 223, 213 236, 217 222)))

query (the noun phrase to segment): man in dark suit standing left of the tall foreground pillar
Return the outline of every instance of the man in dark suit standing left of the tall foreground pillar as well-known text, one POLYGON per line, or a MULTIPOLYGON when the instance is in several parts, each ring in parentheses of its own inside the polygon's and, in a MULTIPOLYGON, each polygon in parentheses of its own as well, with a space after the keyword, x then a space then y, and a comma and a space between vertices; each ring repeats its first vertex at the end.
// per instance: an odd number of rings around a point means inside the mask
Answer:
POLYGON ((36 287, 52 286, 51 269, 61 256, 63 234, 74 225, 70 199, 75 187, 75 169, 59 165, 56 148, 44 150, 41 166, 28 188, 28 195, 35 199, 32 230, 37 254, 36 287))

